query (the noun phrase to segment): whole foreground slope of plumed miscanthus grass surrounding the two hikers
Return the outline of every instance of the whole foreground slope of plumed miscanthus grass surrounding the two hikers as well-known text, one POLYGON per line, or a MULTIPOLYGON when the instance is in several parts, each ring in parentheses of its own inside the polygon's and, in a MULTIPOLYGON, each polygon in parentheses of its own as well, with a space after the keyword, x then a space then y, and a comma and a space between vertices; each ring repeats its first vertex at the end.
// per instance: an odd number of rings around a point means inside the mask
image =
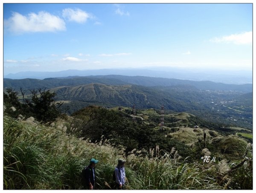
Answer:
POLYGON ((178 160, 174 151, 151 158, 134 153, 125 157, 120 148, 103 141, 90 143, 57 127, 23 124, 8 116, 4 117, 3 126, 4 189, 82 189, 81 170, 90 158, 99 159, 96 189, 113 188, 118 158, 127 160, 127 189, 223 189, 209 175, 218 173, 205 171, 197 162, 178 160))

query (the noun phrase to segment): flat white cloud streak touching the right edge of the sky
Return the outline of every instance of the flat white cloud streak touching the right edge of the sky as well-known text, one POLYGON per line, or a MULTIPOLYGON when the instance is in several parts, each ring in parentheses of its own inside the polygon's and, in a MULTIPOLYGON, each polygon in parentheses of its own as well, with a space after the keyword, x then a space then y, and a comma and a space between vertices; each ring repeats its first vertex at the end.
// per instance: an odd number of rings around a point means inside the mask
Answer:
POLYGON ((234 43, 238 45, 251 44, 253 42, 253 32, 244 32, 223 37, 214 37, 210 41, 214 43, 234 43))

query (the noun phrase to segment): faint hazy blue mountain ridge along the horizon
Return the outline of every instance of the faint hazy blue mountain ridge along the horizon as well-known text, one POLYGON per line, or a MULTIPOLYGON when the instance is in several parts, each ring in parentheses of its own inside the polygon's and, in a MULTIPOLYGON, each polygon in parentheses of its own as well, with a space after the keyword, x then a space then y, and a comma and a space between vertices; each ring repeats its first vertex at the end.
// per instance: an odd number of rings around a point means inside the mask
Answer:
POLYGON ((64 70, 59 72, 18 72, 4 75, 11 79, 44 79, 67 76, 90 76, 90 75, 125 75, 147 76, 159 78, 175 78, 192 81, 213 81, 225 84, 252 84, 252 72, 250 71, 219 71, 203 69, 185 69, 175 67, 148 67, 138 69, 95 69, 95 70, 64 70))

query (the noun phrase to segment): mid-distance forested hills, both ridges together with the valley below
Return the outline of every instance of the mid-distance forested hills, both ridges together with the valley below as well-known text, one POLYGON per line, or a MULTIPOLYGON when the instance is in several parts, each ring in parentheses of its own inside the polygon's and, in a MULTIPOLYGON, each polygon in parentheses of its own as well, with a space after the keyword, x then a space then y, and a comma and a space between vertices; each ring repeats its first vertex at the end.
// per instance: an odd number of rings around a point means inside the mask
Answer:
POLYGON ((47 87, 63 110, 72 114, 89 105, 188 112, 207 121, 252 129, 252 84, 222 84, 143 76, 87 76, 39 79, 4 79, 4 88, 16 91, 47 87))

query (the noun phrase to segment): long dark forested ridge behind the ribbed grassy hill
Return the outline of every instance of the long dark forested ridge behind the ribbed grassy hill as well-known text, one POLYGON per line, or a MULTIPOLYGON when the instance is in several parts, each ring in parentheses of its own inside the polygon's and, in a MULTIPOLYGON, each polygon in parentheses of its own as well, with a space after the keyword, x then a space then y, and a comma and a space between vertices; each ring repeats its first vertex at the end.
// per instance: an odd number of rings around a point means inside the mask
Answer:
POLYGON ((16 90, 20 88, 31 89, 38 87, 47 87, 48 89, 58 86, 79 86, 90 83, 100 83, 108 85, 126 85, 137 84, 141 86, 176 86, 191 85, 202 90, 225 90, 238 92, 252 92, 252 84, 222 84, 211 81, 189 81, 173 78, 152 78, 144 76, 122 76, 122 75, 105 75, 105 76, 85 76, 85 77, 64 77, 64 78, 46 78, 39 79, 8 79, 4 78, 3 86, 12 87, 16 90))

